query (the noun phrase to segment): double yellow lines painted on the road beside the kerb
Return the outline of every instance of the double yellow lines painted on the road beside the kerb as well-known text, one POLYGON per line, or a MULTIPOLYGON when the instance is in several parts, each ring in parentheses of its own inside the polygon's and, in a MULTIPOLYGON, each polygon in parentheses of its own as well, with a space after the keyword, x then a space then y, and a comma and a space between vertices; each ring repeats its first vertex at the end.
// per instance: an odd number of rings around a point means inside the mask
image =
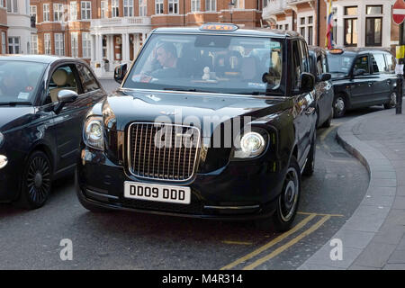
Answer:
MULTIPOLYGON (((252 259, 253 257, 257 257, 259 254, 261 254, 262 252, 266 251, 268 248, 275 246, 277 243, 280 243, 282 240, 284 240, 284 238, 287 238, 289 236, 291 236, 293 233, 295 233, 296 231, 298 231, 299 229, 302 229, 302 227, 304 227, 305 225, 307 225, 312 219, 314 219, 317 216, 316 213, 311 213, 309 214, 308 217, 306 217, 304 220, 302 220, 300 223, 298 223, 298 225, 296 225, 295 227, 293 227, 293 229, 288 230, 287 232, 285 232, 284 234, 280 235, 279 237, 273 239, 272 241, 270 241, 269 243, 267 243, 266 245, 257 248, 255 251, 247 254, 247 256, 245 257, 240 257, 238 258, 238 260, 235 260, 234 262, 230 263, 227 266, 224 266, 222 268, 220 268, 220 270, 228 270, 231 269, 235 266, 238 266, 241 263, 246 262, 249 259, 252 259)), ((259 259, 257 259, 255 262, 253 262, 252 264, 245 266, 243 268, 243 270, 252 270, 255 269, 257 266, 262 265, 263 263, 265 263, 266 261, 276 257, 277 255, 279 255, 280 253, 282 253, 284 250, 288 249, 289 247, 292 247, 294 244, 298 243, 300 240, 302 240, 302 238, 307 237, 308 235, 310 235, 312 232, 314 232, 315 230, 319 229, 320 226, 323 225, 323 223, 325 223, 327 220, 330 219, 330 217, 332 217, 332 215, 325 215, 323 216, 318 222, 316 222, 314 225, 311 226, 310 229, 307 229, 305 231, 303 231, 300 235, 298 235, 297 237, 293 238, 292 240, 290 240, 288 243, 284 244, 281 247, 278 247, 277 249, 275 249, 275 251, 273 251, 272 253, 266 255, 265 257, 261 257, 259 259)))

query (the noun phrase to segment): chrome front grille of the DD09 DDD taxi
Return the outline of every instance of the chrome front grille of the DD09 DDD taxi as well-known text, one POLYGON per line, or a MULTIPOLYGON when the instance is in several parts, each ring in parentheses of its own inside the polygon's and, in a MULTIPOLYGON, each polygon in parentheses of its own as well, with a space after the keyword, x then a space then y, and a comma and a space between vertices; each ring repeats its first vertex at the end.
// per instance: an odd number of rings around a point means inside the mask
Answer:
POLYGON ((132 175, 186 181, 194 174, 200 130, 175 124, 135 122, 129 127, 128 147, 132 175))

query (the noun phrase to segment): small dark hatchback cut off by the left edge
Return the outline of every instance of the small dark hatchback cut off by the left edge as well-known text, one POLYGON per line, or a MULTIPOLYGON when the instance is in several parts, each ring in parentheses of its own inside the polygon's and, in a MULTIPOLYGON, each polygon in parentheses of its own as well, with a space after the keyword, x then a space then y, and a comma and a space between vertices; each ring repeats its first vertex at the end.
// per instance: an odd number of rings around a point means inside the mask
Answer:
POLYGON ((73 174, 85 113, 106 93, 75 58, 0 57, 0 202, 42 206, 73 174))

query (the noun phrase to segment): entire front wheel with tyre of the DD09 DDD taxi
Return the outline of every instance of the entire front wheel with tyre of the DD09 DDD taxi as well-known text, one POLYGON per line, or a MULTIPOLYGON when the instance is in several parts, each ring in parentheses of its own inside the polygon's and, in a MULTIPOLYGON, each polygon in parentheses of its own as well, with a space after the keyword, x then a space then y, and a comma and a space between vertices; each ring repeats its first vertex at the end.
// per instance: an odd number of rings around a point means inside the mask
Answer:
POLYGON ((275 229, 286 231, 291 228, 298 210, 298 202, 301 193, 300 166, 295 157, 290 160, 287 173, 285 174, 283 190, 278 197, 277 209, 273 215, 275 229))

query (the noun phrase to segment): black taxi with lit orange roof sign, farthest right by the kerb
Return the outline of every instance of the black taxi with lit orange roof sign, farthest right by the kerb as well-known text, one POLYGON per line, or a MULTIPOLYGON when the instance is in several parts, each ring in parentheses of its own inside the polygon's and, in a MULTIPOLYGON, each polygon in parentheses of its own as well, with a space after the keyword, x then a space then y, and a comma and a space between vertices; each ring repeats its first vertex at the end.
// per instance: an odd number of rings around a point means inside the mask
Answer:
POLYGON ((331 49, 329 71, 335 92, 335 117, 349 109, 396 105, 395 58, 385 49, 331 49))

